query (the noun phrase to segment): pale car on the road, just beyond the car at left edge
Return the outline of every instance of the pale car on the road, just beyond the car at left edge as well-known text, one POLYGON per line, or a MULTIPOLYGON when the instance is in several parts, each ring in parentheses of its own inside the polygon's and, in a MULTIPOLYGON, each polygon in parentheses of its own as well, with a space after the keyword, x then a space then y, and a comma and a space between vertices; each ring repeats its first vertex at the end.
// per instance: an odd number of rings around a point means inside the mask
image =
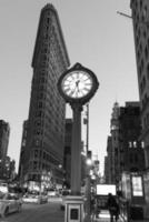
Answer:
POLYGON ((22 203, 47 203, 48 196, 39 192, 28 192, 22 196, 22 203))

